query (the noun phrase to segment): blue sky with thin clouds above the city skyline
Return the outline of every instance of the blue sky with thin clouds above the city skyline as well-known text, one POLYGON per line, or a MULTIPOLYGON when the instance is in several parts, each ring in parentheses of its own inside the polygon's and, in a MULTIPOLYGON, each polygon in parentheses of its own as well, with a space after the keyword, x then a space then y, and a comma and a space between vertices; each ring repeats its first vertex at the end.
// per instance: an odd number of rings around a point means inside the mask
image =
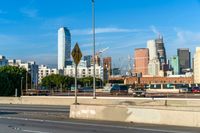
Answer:
MULTIPOLYGON (((114 66, 146 41, 164 37, 167 57, 177 48, 200 46, 200 0, 96 0, 96 50, 109 49, 114 66)), ((72 48, 92 53, 91 0, 4 0, 0 2, 0 54, 10 59, 57 64, 57 30, 66 26, 72 48)), ((122 64, 122 65, 121 65, 122 64)))

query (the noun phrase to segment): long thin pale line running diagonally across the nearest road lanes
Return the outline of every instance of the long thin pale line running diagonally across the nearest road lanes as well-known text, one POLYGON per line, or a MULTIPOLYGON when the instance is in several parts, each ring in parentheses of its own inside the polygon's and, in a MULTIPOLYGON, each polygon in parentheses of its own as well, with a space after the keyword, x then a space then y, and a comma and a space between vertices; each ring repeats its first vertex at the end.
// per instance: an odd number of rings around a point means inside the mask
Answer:
POLYGON ((53 121, 53 120, 29 119, 29 118, 19 118, 19 117, 3 117, 3 116, 0 116, 0 119, 47 122, 47 123, 58 123, 58 124, 71 124, 71 125, 81 125, 81 126, 107 127, 107 128, 130 129, 130 130, 142 130, 142 131, 153 131, 153 132, 163 132, 163 133, 191 133, 191 132, 175 131, 175 130, 162 130, 162 129, 153 129, 153 128, 105 125, 105 124, 82 123, 82 122, 53 121))

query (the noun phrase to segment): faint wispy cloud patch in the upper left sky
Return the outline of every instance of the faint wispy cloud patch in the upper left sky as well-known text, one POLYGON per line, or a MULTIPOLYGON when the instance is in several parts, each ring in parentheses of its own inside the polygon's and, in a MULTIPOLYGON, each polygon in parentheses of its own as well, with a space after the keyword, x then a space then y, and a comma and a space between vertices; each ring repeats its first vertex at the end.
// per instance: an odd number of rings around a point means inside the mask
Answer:
POLYGON ((37 9, 21 8, 20 12, 23 13, 25 16, 30 17, 30 18, 35 18, 38 15, 37 9))

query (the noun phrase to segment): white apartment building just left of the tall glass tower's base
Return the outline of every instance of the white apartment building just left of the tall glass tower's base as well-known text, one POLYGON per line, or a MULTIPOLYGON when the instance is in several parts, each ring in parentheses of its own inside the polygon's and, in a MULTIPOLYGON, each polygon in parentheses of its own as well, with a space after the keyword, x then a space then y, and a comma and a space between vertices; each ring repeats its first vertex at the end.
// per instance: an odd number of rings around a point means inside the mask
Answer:
POLYGON ((45 65, 40 65, 38 70, 38 82, 41 83, 42 79, 51 74, 58 74, 58 69, 48 68, 45 65))

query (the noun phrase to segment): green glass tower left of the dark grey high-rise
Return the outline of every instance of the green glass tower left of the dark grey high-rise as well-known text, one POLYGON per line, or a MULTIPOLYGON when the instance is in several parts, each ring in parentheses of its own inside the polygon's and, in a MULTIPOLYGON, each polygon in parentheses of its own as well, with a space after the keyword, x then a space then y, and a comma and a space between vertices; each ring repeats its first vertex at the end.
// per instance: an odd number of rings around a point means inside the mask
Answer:
POLYGON ((174 75, 179 74, 179 58, 178 58, 178 56, 172 56, 170 58, 170 69, 173 71, 174 75))

